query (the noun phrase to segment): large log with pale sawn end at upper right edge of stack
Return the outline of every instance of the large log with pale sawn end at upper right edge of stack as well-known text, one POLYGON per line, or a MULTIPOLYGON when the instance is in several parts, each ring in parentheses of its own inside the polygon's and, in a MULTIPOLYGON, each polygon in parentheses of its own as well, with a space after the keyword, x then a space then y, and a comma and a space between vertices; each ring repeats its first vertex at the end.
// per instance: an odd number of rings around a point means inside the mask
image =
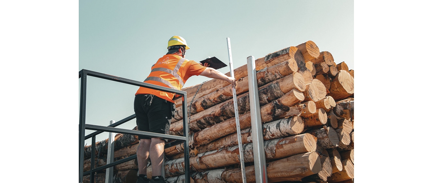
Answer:
POLYGON ((354 93, 353 77, 345 70, 340 70, 331 82, 330 96, 334 100, 344 99, 354 93))

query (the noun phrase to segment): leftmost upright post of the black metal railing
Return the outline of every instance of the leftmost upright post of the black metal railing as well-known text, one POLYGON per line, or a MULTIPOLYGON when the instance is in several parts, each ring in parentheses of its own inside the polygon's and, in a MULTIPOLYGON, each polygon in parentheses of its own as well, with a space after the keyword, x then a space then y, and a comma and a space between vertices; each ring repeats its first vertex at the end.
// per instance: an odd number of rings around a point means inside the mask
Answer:
POLYGON ((78 124, 78 183, 83 183, 84 170, 84 136, 86 125, 86 86, 87 73, 81 72, 81 95, 80 95, 80 123, 78 124))

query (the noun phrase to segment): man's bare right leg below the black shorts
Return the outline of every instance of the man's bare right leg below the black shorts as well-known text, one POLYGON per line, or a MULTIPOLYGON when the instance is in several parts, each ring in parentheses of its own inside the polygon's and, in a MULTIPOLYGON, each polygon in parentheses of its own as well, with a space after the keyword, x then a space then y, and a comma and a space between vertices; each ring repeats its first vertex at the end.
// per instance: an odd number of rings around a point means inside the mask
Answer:
POLYGON ((162 159, 164 158, 165 141, 158 138, 152 138, 150 143, 150 161, 152 162, 152 177, 161 176, 162 159))

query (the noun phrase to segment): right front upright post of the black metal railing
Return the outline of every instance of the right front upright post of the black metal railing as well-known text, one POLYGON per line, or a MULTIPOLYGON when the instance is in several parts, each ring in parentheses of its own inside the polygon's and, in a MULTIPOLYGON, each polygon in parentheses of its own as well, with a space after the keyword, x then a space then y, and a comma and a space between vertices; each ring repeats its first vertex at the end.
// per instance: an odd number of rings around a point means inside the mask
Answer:
POLYGON ((187 110, 187 95, 182 95, 182 110, 184 122, 184 163, 185 163, 185 183, 190 183, 189 176, 189 124, 188 124, 188 110, 187 110))

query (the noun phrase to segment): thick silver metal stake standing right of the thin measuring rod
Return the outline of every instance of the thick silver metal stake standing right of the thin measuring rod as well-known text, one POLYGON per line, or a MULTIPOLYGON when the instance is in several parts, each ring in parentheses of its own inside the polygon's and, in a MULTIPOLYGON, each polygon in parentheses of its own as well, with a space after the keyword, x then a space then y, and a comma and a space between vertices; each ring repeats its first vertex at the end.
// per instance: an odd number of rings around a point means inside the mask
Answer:
POLYGON ((251 111, 252 151, 254 156, 255 182, 267 183, 265 148, 263 147, 262 117, 260 115, 259 90, 254 57, 247 58, 249 106, 251 111))

